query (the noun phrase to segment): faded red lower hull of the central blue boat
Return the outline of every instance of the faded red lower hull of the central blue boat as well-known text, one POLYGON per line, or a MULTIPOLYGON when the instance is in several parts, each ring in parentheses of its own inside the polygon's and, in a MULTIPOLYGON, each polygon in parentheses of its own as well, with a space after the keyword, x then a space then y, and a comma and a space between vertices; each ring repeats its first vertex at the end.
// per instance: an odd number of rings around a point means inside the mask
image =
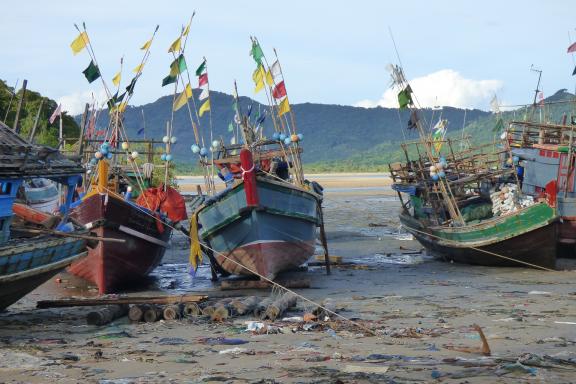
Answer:
POLYGON ((217 255, 216 260, 232 274, 253 275, 251 271, 255 271, 268 279, 274 279, 278 272, 305 263, 314 254, 314 250, 314 241, 263 241, 240 246, 226 257, 217 255))

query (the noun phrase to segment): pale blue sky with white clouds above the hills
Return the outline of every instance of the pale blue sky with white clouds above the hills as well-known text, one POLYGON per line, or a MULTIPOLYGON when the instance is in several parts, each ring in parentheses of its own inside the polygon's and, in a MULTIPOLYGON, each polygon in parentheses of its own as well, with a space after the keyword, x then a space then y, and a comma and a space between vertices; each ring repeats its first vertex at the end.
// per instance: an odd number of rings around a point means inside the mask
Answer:
POLYGON ((538 78, 531 68, 542 70, 544 96, 573 91, 576 79, 566 53, 576 40, 574 0, 4 0, 2 8, 0 79, 11 86, 27 79, 72 114, 92 95, 104 99, 101 83, 82 74, 88 54, 70 49, 74 23, 86 23, 108 84, 124 57, 124 85, 160 26, 131 99, 142 105, 173 93, 161 87, 172 61, 167 49, 194 10, 188 66, 206 57, 211 90, 231 93, 237 80, 240 95, 262 102, 263 93, 253 92, 250 36, 270 63, 277 50, 291 103, 396 107, 390 63, 402 65, 422 106, 488 110, 494 95, 504 105, 530 103, 538 78))

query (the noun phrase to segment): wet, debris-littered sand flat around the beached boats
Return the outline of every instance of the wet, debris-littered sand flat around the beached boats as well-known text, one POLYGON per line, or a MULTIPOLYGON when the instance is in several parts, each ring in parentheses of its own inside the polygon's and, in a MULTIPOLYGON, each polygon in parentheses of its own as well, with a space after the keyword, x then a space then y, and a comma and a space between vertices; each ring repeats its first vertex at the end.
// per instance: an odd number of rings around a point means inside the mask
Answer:
MULTIPOLYGON (((346 188, 361 187, 354 184, 346 188)), ((246 331, 234 318, 96 327, 87 309, 35 310, 38 299, 94 294, 63 274, 0 314, 0 381, 59 383, 570 383, 576 380, 576 263, 557 272, 435 261, 406 240, 387 192, 328 192, 329 247, 354 265, 327 276, 309 267, 315 301, 330 298, 354 323, 328 319, 267 322, 246 331), (492 356, 476 349, 486 334, 492 356), (278 333, 276 333, 278 332, 278 333), (374 334, 371 334, 373 332, 374 334), (222 339, 242 345, 219 345, 222 339), (470 349, 468 352, 463 348, 470 349), (456 350, 455 350, 456 349, 456 350), (359 371, 359 372, 357 372, 359 371)), ((141 289, 223 295, 202 267, 187 274, 185 239, 141 289)), ((233 294, 268 295, 269 292, 233 294)), ((287 316, 312 305, 300 301, 287 316)))

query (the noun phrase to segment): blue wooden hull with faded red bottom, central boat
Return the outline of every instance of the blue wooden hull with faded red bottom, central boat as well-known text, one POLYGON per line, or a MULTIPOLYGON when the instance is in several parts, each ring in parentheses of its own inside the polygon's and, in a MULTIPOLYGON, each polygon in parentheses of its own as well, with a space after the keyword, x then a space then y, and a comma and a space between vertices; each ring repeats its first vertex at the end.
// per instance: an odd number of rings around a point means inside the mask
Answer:
POLYGON ((200 236, 227 272, 273 279, 314 254, 320 203, 292 185, 258 179, 257 189, 258 207, 246 207, 241 183, 201 208, 200 236))

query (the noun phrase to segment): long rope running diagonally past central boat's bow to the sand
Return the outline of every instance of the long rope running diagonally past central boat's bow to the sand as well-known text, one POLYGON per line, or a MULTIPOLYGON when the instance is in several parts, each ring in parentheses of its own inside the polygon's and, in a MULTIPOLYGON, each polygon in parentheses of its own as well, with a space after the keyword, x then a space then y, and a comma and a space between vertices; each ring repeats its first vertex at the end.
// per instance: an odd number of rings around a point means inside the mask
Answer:
MULTIPOLYGON (((112 196, 116 196, 116 197, 120 196, 120 195, 118 195, 117 193, 115 193, 114 191, 111 191, 111 190, 109 190, 109 189, 107 189, 107 188, 106 188, 106 190, 107 190, 108 193, 111 194, 112 196)), ((175 228, 174 226, 172 226, 172 225, 170 225, 169 223, 161 220, 159 217, 156 217, 156 216, 154 216, 154 215, 146 212, 146 211, 143 210, 141 207, 139 207, 139 206, 137 206, 137 205, 134 205, 134 208, 136 208, 136 209, 140 210, 142 213, 144 213, 144 214, 152 217, 154 220, 160 221, 160 222, 163 223, 165 226, 167 226, 167 227, 169 227, 169 228, 171 228, 171 229, 173 229, 173 230, 176 230, 176 228, 175 228)), ((186 235, 186 234, 185 234, 184 236, 186 236, 188 239, 192 240, 192 238, 191 238, 189 235, 186 235)), ((363 324, 357 323, 356 321, 354 321, 354 320, 352 320, 352 319, 350 319, 350 318, 348 318, 348 317, 346 317, 346 316, 343 316, 343 315, 341 315, 341 314, 339 314, 339 313, 336 313, 336 312, 334 312, 334 311, 332 311, 332 310, 324 307, 322 304, 320 304, 320 303, 318 303, 318 302, 315 302, 314 300, 311 300, 311 299, 309 299, 309 298, 307 298, 307 297, 305 297, 305 296, 303 296, 303 295, 300 295, 299 293, 296 293, 295 291, 291 290, 290 288, 287 288, 287 287, 285 287, 285 286, 283 286, 283 285, 281 285, 281 284, 278 284, 277 282, 275 282, 275 281, 267 278, 266 276, 263 276, 263 275, 259 274, 257 271, 254 271, 254 270, 250 269, 249 267, 243 265, 242 263, 240 263, 240 262, 238 262, 238 261, 236 261, 236 260, 233 260, 233 259, 229 258, 228 256, 226 256, 225 254, 223 254, 223 253, 221 253, 221 252, 218 252, 217 250, 215 250, 215 249, 207 246, 206 244, 200 244, 200 245, 201 245, 203 248, 206 248, 206 249, 214 252, 215 254, 218 254, 219 256, 222 256, 223 258, 225 258, 226 260, 228 260, 228 261, 236 264, 237 266, 246 269, 246 270, 249 271, 250 273, 258 276, 260 279, 267 281, 268 283, 272 284, 273 287, 276 287, 276 288, 279 288, 279 289, 283 289, 284 291, 293 294, 294 296, 302 299, 303 301, 305 301, 305 302, 307 302, 307 303, 309 303, 309 304, 312 304, 312 305, 314 305, 314 306, 316 306, 316 307, 318 307, 318 308, 323 309, 326 313, 329 313, 329 314, 331 314, 331 315, 333 315, 333 316, 335 316, 335 317, 338 317, 338 318, 340 318, 340 319, 342 319, 342 320, 344 320, 344 321, 349 322, 350 324, 358 327, 359 329, 362 329, 363 331, 369 333, 369 334, 372 335, 372 336, 379 337, 379 338, 382 338, 382 339, 386 338, 386 339, 388 340, 388 342, 390 342, 391 344, 397 344, 397 345, 406 345, 406 344, 409 344, 409 343, 408 343, 407 341, 405 341, 405 340, 395 340, 395 339, 393 339, 393 338, 390 337, 390 336, 384 337, 384 335, 379 335, 379 334, 377 334, 375 331, 373 331, 372 329, 364 326, 363 324)))

